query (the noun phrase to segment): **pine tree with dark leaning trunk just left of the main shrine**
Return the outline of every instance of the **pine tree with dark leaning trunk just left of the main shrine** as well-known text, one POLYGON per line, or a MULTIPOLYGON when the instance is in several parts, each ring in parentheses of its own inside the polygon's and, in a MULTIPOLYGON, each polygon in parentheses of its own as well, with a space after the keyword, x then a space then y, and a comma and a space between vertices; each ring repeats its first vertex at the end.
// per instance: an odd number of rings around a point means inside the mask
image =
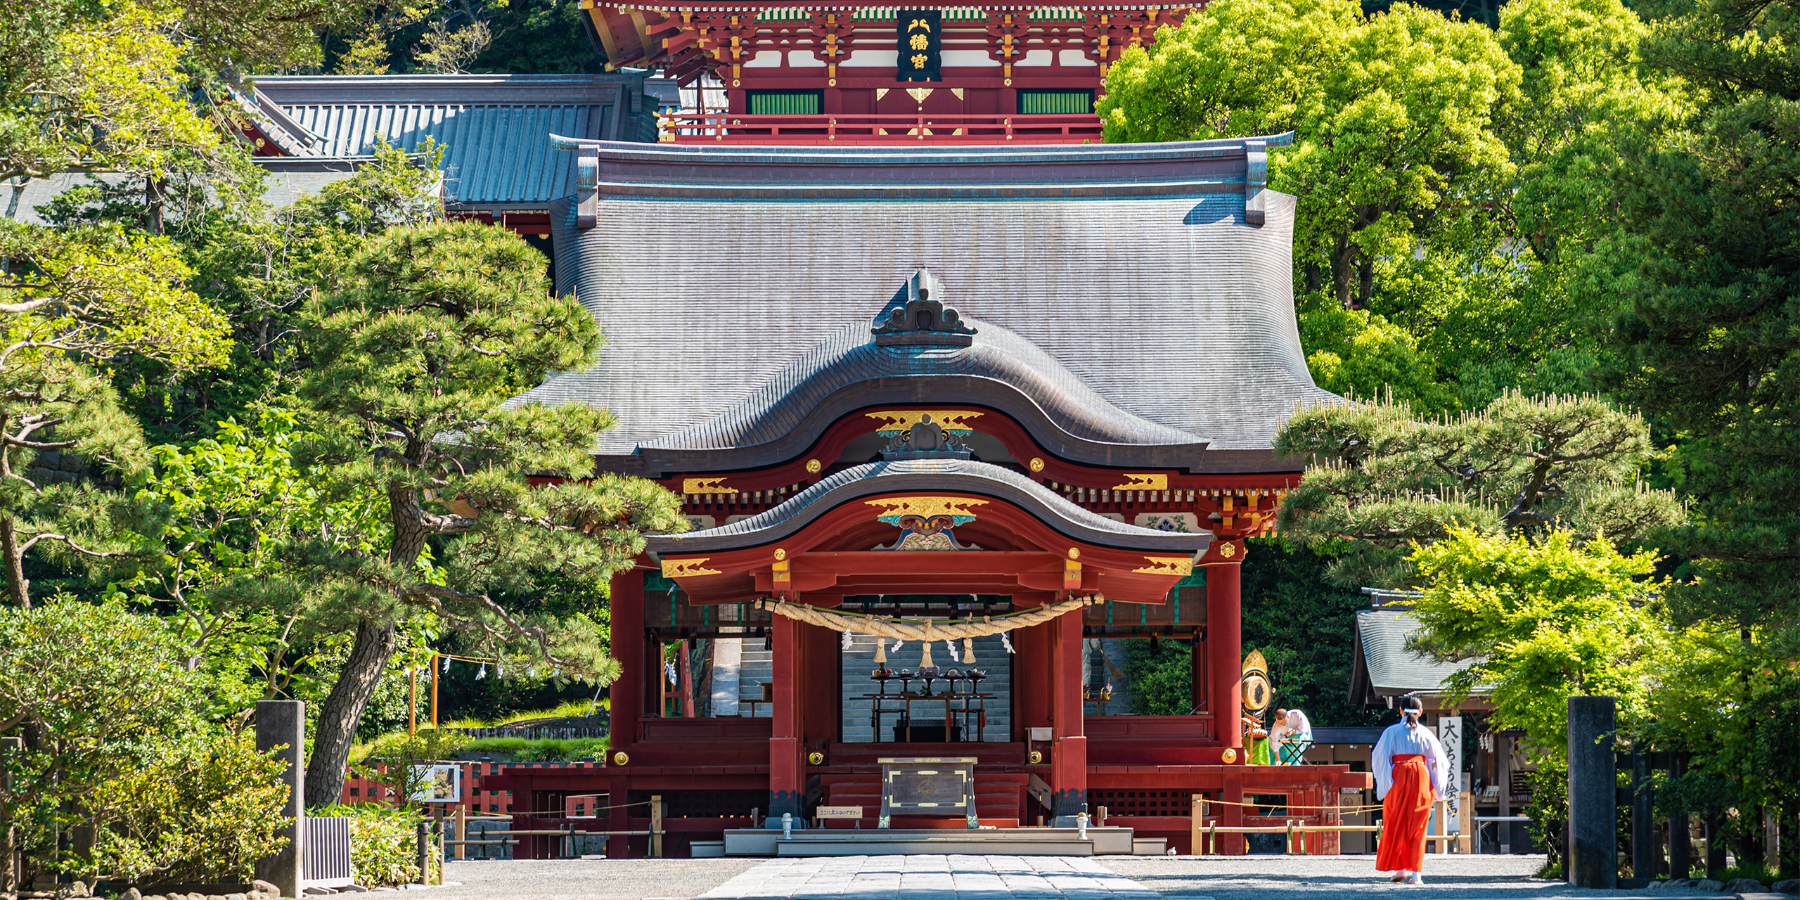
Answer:
POLYGON ((398 623, 430 614, 490 655, 589 679, 612 675, 585 616, 520 616, 495 601, 538 572, 630 563, 650 529, 679 529, 679 500, 652 482, 596 475, 592 441, 612 419, 585 405, 509 405, 549 371, 599 349, 592 315, 553 295, 544 259, 477 223, 389 230, 355 275, 306 313, 299 398, 319 436, 310 454, 331 491, 385 499, 385 526, 315 551, 311 583, 355 632, 326 697, 308 770, 329 803, 356 724, 398 648, 398 623), (560 481, 533 486, 529 475, 560 481))

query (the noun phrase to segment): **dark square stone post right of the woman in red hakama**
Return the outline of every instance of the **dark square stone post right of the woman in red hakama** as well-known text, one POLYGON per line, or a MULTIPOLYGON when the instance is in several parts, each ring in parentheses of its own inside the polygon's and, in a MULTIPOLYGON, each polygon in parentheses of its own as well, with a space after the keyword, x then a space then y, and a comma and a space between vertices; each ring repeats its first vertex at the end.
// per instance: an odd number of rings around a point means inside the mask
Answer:
POLYGON ((1618 887, 1618 781, 1613 697, 1570 697, 1568 882, 1618 887))

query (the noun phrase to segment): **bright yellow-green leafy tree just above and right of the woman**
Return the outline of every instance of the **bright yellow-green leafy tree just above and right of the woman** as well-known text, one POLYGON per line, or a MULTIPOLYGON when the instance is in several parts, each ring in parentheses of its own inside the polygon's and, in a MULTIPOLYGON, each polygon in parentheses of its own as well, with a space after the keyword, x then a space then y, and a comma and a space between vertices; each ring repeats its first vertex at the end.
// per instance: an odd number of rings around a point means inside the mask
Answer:
POLYGON ((1413 616, 1426 628, 1415 650, 1476 661, 1449 677, 1453 702, 1480 689, 1494 725, 1523 729, 1539 760, 1568 752, 1570 697, 1616 697, 1627 727, 1643 716, 1665 639, 1651 614, 1667 587, 1651 580, 1652 551, 1624 556, 1568 531, 1534 540, 1451 529, 1418 547, 1413 565, 1424 580, 1413 616))

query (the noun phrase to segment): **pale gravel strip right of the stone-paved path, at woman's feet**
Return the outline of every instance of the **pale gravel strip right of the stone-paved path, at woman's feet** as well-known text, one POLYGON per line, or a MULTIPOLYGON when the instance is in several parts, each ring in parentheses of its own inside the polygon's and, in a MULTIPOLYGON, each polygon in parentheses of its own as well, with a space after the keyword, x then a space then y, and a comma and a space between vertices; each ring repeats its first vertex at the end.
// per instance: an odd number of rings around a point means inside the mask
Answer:
POLYGON ((1544 857, 1426 857, 1422 887, 1388 884, 1375 857, 1100 857, 1138 884, 1170 896, 1271 900, 1397 895, 1408 900, 1658 898, 1730 896, 1685 891, 1591 891, 1534 878, 1544 857))

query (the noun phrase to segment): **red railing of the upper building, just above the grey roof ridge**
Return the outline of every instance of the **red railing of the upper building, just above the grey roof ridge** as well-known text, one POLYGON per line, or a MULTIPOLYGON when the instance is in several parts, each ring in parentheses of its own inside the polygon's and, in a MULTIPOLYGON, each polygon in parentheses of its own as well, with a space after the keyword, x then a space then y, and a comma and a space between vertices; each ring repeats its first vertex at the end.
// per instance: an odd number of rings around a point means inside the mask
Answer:
POLYGON ((1098 144, 1100 117, 1080 115, 664 115, 675 144, 1098 144))

